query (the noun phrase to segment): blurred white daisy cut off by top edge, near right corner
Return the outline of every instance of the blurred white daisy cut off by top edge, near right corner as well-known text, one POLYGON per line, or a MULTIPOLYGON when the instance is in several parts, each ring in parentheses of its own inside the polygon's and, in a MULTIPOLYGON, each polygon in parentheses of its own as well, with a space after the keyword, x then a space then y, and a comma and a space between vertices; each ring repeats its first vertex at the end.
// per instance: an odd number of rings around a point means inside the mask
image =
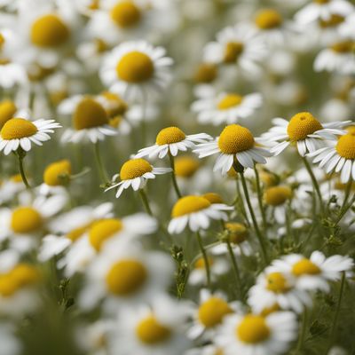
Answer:
POLYGON ((353 11, 353 5, 347 0, 310 0, 296 12, 295 19, 305 25, 315 20, 329 20, 332 15, 346 16, 353 11))

